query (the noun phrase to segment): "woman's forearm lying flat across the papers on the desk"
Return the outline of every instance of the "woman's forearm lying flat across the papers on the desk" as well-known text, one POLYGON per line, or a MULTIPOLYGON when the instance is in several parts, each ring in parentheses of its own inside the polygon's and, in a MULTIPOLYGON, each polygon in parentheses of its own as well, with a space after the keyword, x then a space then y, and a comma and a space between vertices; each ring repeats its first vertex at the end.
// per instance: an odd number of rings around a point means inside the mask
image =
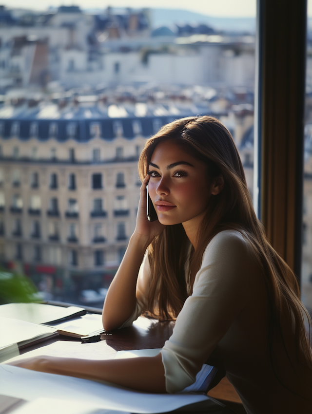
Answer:
POLYGON ((38 357, 12 363, 51 374, 114 382, 139 391, 165 393, 165 371, 161 354, 156 357, 90 360, 38 357))

